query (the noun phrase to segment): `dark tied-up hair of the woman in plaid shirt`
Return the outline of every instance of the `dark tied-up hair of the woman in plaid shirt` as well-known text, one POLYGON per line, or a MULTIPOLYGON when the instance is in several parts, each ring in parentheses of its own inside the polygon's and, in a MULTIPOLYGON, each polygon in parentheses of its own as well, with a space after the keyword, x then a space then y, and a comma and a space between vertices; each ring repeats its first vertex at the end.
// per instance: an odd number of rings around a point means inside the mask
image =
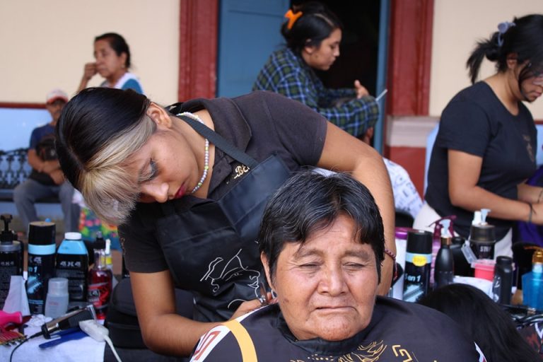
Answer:
POLYGON ((288 20, 281 25, 281 35, 286 40, 286 46, 296 54, 300 54, 307 46, 319 47, 332 31, 341 29, 339 18, 317 1, 296 6, 296 13, 298 11, 302 12, 302 16, 296 19, 291 29, 288 29, 288 20))

